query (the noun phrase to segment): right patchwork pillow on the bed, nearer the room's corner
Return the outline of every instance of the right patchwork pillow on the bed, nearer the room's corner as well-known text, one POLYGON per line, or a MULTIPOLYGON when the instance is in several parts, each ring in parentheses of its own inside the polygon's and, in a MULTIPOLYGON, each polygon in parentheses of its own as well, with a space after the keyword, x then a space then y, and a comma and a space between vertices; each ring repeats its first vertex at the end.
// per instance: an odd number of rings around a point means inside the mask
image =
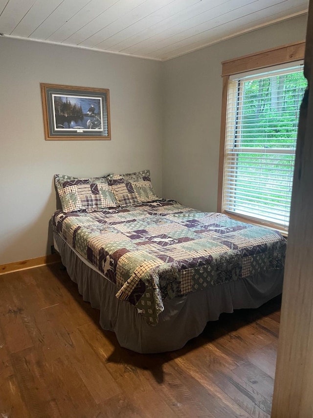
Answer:
POLYGON ((110 174, 108 184, 120 206, 158 200, 150 180, 150 170, 127 174, 110 174))

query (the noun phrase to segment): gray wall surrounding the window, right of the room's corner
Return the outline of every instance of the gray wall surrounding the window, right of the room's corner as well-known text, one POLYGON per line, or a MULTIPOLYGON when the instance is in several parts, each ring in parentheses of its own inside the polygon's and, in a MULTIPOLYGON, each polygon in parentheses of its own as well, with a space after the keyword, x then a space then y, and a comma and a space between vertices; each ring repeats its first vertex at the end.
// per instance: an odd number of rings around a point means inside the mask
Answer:
POLYGON ((163 197, 216 211, 221 62, 303 41, 306 19, 272 25, 163 63, 163 197))

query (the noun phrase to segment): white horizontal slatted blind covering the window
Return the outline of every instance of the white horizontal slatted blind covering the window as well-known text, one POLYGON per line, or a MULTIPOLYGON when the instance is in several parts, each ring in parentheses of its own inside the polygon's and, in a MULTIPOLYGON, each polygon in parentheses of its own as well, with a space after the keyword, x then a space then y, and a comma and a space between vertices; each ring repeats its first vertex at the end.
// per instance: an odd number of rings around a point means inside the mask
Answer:
POLYGON ((288 229, 302 66, 230 77, 226 116, 226 212, 288 229))

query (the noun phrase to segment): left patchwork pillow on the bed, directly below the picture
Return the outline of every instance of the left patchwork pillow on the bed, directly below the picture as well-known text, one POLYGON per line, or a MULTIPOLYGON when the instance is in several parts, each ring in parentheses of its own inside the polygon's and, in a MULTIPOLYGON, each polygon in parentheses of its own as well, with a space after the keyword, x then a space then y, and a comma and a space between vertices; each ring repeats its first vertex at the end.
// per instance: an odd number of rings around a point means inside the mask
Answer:
POLYGON ((77 178, 55 174, 54 181, 64 212, 80 209, 92 212, 117 206, 105 177, 77 178))

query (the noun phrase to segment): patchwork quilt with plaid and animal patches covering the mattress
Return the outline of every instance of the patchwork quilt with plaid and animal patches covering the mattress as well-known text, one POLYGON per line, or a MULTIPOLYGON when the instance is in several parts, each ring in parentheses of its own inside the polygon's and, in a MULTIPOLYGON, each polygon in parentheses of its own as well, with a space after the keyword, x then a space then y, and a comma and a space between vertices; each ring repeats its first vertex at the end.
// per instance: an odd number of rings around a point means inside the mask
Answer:
POLYGON ((152 325, 166 299, 284 268, 286 240, 278 231, 173 200, 57 211, 52 225, 152 325))

